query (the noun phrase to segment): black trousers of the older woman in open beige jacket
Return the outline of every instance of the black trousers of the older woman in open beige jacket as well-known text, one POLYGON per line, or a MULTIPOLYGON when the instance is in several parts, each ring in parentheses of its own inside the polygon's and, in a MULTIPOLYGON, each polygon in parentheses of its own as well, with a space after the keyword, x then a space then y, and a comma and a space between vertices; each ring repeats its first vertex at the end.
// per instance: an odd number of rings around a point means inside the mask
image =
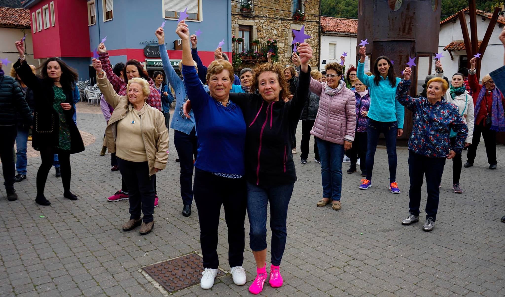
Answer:
POLYGON ((152 222, 155 213, 156 174, 149 176, 147 161, 131 162, 118 158, 118 164, 123 180, 130 186, 130 219, 139 219, 142 212, 142 221, 152 222))

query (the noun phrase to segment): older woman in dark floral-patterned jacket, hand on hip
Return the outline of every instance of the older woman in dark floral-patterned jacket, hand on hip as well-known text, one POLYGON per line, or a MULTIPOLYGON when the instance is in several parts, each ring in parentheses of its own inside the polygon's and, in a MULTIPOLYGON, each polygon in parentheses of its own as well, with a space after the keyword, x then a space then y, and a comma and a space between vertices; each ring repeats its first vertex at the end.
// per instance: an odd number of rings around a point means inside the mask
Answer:
POLYGON ((396 100, 414 112, 413 130, 409 138, 409 175, 410 203, 409 216, 402 220, 403 225, 419 221, 421 187, 423 174, 426 175, 426 221, 423 230, 431 231, 435 224, 438 197, 438 185, 442 179, 445 159, 452 159, 461 153, 468 136, 468 128, 460 115, 458 107, 443 99, 449 85, 443 78, 428 81, 428 98, 412 98, 408 95, 412 70, 407 67, 396 90, 396 100), (456 132, 456 140, 451 145, 450 129, 456 132))

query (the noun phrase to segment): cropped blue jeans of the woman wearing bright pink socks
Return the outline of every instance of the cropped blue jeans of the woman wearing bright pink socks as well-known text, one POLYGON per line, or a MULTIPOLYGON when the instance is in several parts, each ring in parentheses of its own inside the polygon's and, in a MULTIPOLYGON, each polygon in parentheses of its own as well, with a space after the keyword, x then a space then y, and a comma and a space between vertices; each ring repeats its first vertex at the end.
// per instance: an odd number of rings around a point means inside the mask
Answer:
POLYGON ((281 264, 284 248, 286 247, 287 206, 293 193, 293 185, 265 188, 247 182, 247 215, 250 225, 249 247, 254 252, 263 251, 267 248, 267 206, 270 201, 271 263, 275 266, 281 264))

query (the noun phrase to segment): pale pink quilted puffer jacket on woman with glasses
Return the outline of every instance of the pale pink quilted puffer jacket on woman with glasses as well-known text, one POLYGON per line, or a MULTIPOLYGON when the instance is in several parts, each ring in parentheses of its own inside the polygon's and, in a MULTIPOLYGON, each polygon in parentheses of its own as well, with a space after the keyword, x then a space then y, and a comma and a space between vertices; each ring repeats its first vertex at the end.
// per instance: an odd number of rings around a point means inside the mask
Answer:
POLYGON ((311 92, 319 95, 319 110, 311 134, 329 142, 344 144, 354 141, 356 132, 356 97, 340 81, 335 95, 326 94, 326 83, 311 79, 311 92))

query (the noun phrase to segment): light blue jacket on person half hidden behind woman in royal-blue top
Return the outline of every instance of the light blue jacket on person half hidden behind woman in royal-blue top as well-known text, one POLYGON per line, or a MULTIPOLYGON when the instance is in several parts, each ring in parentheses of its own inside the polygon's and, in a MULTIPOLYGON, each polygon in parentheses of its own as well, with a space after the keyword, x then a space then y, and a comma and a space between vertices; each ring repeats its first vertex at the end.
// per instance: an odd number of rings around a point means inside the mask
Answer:
MULTIPOLYGON (((172 117, 172 121, 170 122, 170 128, 189 135, 194 128, 195 122, 192 110, 189 112, 189 115, 191 117, 189 118, 182 117, 182 115, 184 114, 182 112, 182 104, 184 104, 186 99, 186 86, 184 86, 184 83, 182 82, 181 78, 177 75, 174 67, 170 64, 170 59, 168 58, 167 47, 165 46, 165 44, 164 43, 159 44, 159 47, 160 47, 161 61, 163 63, 163 71, 165 71, 168 82, 170 83, 172 88, 174 88, 175 91, 175 99, 176 99, 175 111, 174 116, 172 117)), ((205 87, 207 86, 204 86, 204 88, 205 87)))

